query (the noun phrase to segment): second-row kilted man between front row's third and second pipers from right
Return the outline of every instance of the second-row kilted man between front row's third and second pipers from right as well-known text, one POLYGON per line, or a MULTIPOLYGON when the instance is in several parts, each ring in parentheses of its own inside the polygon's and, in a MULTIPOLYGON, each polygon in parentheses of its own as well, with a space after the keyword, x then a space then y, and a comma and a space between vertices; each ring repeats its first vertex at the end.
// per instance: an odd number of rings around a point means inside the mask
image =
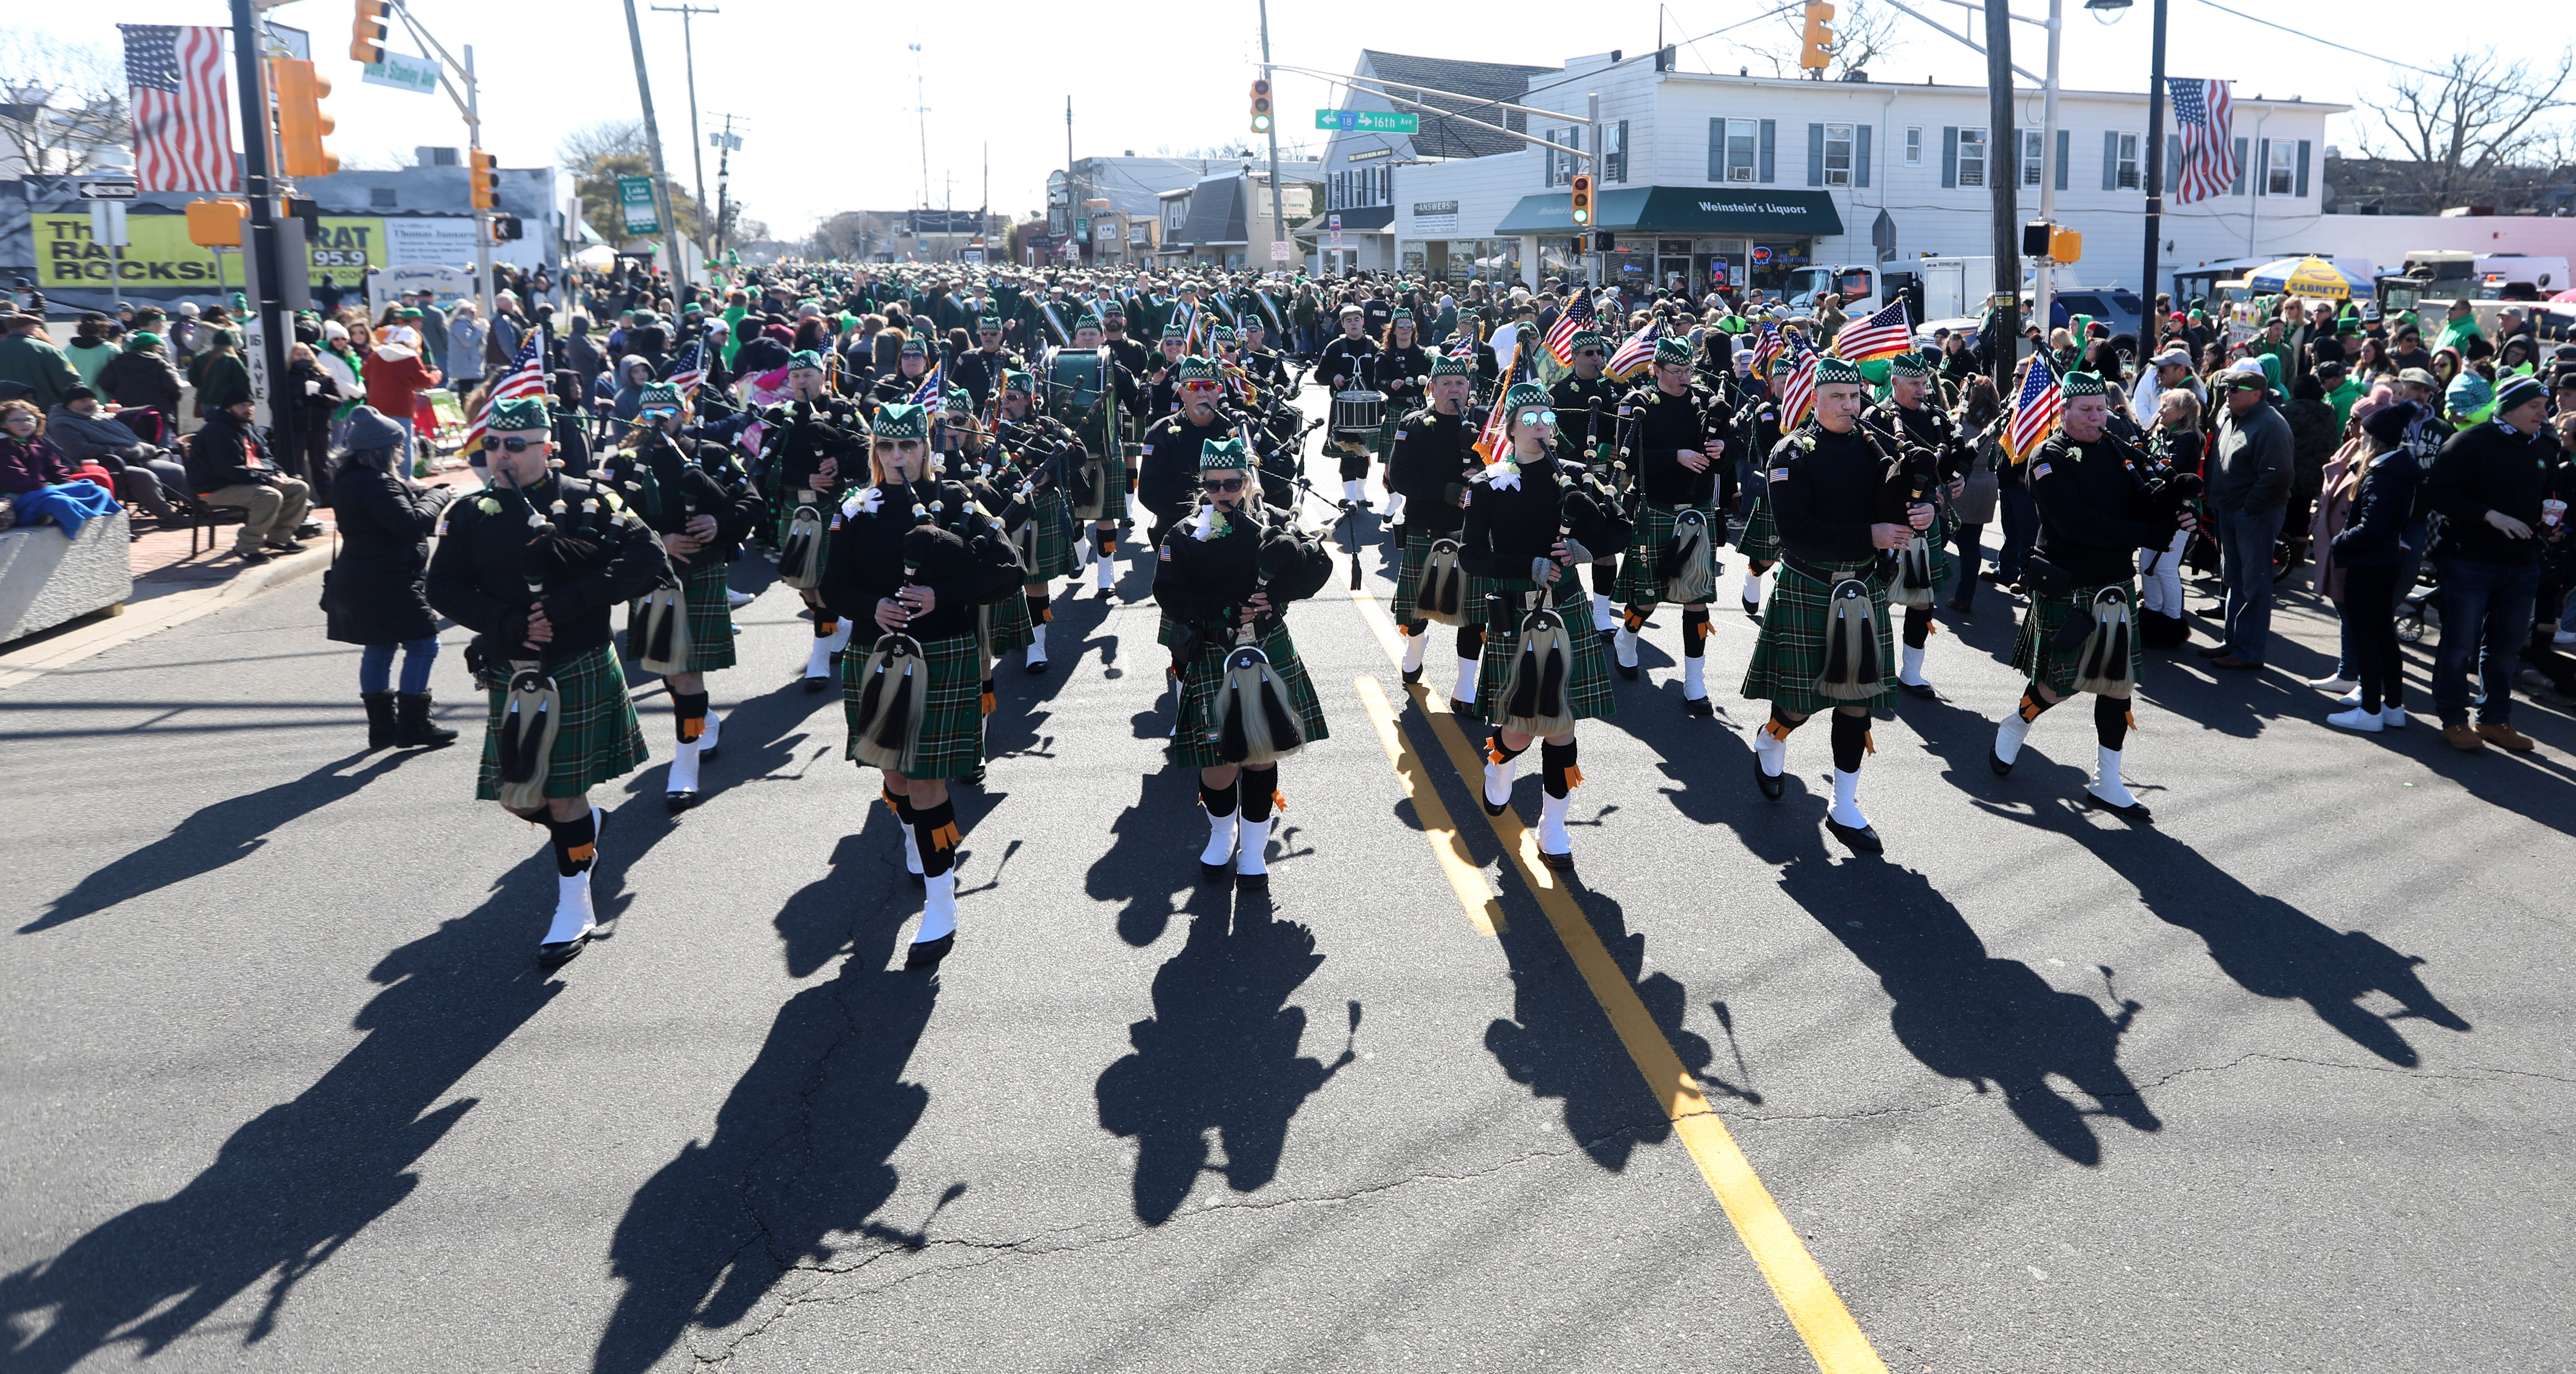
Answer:
POLYGON ((1682 711, 1713 717, 1708 701, 1708 606, 1718 601, 1718 544, 1734 505, 1726 433, 1734 412, 1692 376, 1690 340, 1654 345, 1654 384, 1618 402, 1625 449, 1636 456, 1636 531, 1613 595, 1625 606, 1610 647, 1620 678, 1636 681, 1636 632, 1656 603, 1682 606, 1682 711))

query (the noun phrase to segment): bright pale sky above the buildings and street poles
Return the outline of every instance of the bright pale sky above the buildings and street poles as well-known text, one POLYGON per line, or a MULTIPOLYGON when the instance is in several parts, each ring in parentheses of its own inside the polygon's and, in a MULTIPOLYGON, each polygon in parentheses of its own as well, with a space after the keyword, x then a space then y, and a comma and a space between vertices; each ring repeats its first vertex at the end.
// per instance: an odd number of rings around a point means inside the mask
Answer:
MULTIPOLYGON (((644 57, 662 124, 665 160, 688 188, 690 101, 680 15, 639 0, 644 57)), ((675 3, 675 0, 672 0, 675 3)), ((693 0, 696 3, 696 0, 693 0)), ((1664 41, 1685 44, 1685 70, 1731 72, 1762 59, 1736 41, 1790 41, 1785 18, 1757 18, 1775 0, 1659 5, 1654 0, 1587 0, 1579 36, 1569 34, 1561 0, 1484 0, 1479 5, 1319 5, 1273 8, 1273 57, 1283 64, 1347 72, 1360 46, 1481 62, 1558 64, 1587 52, 1641 54, 1664 41), (1352 15, 1365 13, 1365 23, 1352 15), (1754 23, 1747 23, 1754 21, 1754 23), (1726 26, 1731 34, 1703 36, 1726 26), (1363 39, 1365 34, 1365 39, 1363 39)), ((2228 10, 2313 26, 2329 5, 2223 0, 2228 10)), ((2357 103, 2385 93, 2385 59, 2336 52, 2303 36, 2262 28, 2208 0, 2169 0, 2166 70, 2177 77, 2228 77, 2236 93, 2357 103)), ((716 150, 703 134, 737 116, 732 196, 773 232, 804 235, 842 209, 992 206, 1028 214, 1043 204, 1046 173, 1064 165, 1064 103, 1074 106, 1074 155, 1180 155, 1247 134, 1247 85, 1260 64, 1257 0, 1198 5, 1095 0, 1090 5, 997 0, 979 5, 858 5, 848 0, 714 0, 721 13, 696 15, 696 77, 706 188, 716 191, 716 150), (920 44, 920 52, 912 46, 920 44), (927 113, 917 113, 927 111, 927 113), (925 168, 927 162, 927 168, 925 168), (987 193, 989 178, 989 193, 987 193)), ((1914 0, 1953 31, 1981 18, 1950 0, 1914 0)), ((2481 5, 2481 10, 2486 10, 2481 5)), ((224 23, 222 0, 108 0, 77 8, 80 21, 49 8, 31 28, 59 41, 108 44, 116 23, 224 23), (93 18, 95 15, 95 18, 93 18)), ((343 157, 394 155, 415 144, 464 144, 464 121, 443 95, 363 85, 348 59, 348 0, 291 0, 270 21, 314 34, 322 75, 335 85, 325 108, 337 119, 330 139, 343 157)), ((417 0, 412 13, 440 44, 477 49, 484 82, 484 147, 500 165, 554 160, 559 139, 582 124, 634 119, 634 59, 626 10, 613 0, 417 0)), ((2045 5, 2020 0, 2040 18, 2045 5)), ((2432 34, 2419 0, 2342 0, 2331 5, 2342 44, 2439 67, 2468 36, 2432 34)), ((2514 52, 2550 54, 2576 41, 2576 10, 2517 5, 2514 52)), ((2308 28, 2316 31, 2316 28, 2308 28)), ((1870 64, 1875 80, 1981 85, 1984 57, 1927 23, 1899 15, 1904 39, 1870 64)), ((2045 34, 2014 26, 2014 62, 2040 70, 2045 34)), ((420 52, 394 26, 397 52, 420 52)), ((2071 90, 2146 90, 2148 0, 2117 23, 2099 23, 2069 0, 2063 85, 2071 90)), ((1337 103, 1321 80, 1280 75, 1280 131, 1306 137, 1316 108, 1337 103)), ((2357 152, 2354 111, 2326 126, 2329 144, 2357 152)), ((1291 144, 1283 142, 1283 155, 1291 144)))

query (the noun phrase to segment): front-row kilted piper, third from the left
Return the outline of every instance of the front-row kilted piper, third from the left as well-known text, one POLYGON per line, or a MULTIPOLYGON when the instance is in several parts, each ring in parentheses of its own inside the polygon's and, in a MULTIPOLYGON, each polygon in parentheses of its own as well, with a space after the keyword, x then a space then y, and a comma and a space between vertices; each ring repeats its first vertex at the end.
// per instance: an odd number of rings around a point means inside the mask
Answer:
POLYGON ((1280 758, 1324 740, 1324 706, 1288 634, 1285 606, 1332 577, 1332 554, 1270 508, 1242 438, 1200 446, 1203 500, 1172 526, 1154 565, 1159 642, 1172 650, 1180 717, 1172 763, 1198 768, 1208 812, 1200 874, 1270 887, 1270 825, 1285 794, 1280 758))

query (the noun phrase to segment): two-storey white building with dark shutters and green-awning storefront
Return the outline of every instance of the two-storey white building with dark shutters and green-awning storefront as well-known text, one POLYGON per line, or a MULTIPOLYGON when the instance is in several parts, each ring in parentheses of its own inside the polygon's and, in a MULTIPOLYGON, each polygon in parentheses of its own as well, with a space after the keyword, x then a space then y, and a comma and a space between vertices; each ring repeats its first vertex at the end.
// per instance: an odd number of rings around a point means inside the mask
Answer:
MULTIPOLYGON (((1425 80, 1427 77, 1414 77, 1425 80)), ((1595 229, 1618 237, 1607 276, 1695 291, 1780 291, 1803 266, 1888 266, 1994 253, 1989 178, 2020 188, 2017 219, 2040 206, 2040 98, 2025 90, 2009 131, 1991 131, 1981 85, 1808 82, 1667 72, 1656 54, 1569 59, 1533 77, 1517 103, 1558 108, 1528 129, 1566 147, 1602 103, 1595 229)), ((2177 266, 2308 250, 2318 240, 2326 116, 2344 106, 2236 98, 2241 173, 2226 196, 2164 211, 2159 286, 2177 266)), ((1499 124, 1499 119, 1489 119, 1499 124)), ((2061 273, 2133 286, 2143 271, 2146 93, 2058 95, 2056 217, 2084 235, 2061 273)), ((1342 165, 1340 134, 1327 178, 1342 165)), ((1574 160, 1522 144, 1458 160, 1388 157, 1391 266, 1466 278, 1473 263, 1538 284, 1582 276, 1569 183, 1574 160)), ((2166 180, 2179 139, 2166 142, 2166 180)))

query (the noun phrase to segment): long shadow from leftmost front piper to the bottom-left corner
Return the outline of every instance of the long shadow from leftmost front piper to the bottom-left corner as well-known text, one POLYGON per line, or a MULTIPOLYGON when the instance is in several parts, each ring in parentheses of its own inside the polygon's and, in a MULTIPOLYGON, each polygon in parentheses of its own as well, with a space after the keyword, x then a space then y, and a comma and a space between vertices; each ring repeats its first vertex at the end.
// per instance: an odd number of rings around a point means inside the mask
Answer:
POLYGON ((554 864, 510 869, 471 915, 392 951, 355 1018, 366 1031, 319 1083, 232 1134, 185 1188, 134 1206, 59 1255, 0 1279, 0 1364, 59 1371, 111 1346, 149 1359, 242 1292, 268 1284, 242 1330, 276 1330, 294 1286, 420 1183, 412 1165, 477 1106, 438 1106, 562 985, 536 969, 528 913, 554 864))

